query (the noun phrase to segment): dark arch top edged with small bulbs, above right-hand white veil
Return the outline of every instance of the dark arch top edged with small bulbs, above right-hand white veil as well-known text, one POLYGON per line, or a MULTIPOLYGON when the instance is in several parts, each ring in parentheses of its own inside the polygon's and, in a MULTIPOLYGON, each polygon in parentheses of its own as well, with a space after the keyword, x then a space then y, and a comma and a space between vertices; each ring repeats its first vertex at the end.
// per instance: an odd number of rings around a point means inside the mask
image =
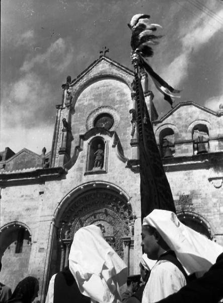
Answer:
POLYGON ((202 219, 196 215, 180 214, 178 219, 186 226, 206 236, 208 239, 211 238, 210 229, 206 226, 202 219))

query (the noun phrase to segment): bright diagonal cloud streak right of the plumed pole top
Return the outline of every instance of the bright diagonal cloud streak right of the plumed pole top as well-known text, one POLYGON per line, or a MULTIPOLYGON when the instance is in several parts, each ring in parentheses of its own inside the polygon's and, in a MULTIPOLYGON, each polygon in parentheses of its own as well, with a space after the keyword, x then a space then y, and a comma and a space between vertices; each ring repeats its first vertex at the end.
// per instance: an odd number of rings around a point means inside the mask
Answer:
POLYGON ((170 81, 171 85, 177 87, 187 77, 193 53, 198 52, 205 43, 210 42, 210 39, 222 28, 222 24, 216 18, 223 18, 223 9, 210 18, 201 13, 186 28, 180 29, 179 55, 163 69, 165 79, 170 81))

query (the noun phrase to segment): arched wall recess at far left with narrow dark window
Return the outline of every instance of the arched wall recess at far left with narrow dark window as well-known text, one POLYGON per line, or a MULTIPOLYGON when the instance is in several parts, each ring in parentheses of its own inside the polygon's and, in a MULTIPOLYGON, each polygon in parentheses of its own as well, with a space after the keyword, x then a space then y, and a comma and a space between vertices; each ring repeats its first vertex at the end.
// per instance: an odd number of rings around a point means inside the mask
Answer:
POLYGON ((14 221, 0 229, 1 281, 12 289, 27 275, 31 245, 31 232, 24 223, 14 221))

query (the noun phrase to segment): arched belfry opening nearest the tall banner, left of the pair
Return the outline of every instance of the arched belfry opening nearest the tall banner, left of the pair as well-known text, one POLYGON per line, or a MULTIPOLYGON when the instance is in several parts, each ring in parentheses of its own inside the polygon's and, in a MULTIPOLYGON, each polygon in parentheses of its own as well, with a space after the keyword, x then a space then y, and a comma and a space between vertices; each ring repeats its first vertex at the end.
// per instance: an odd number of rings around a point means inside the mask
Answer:
POLYGON ((172 158, 175 153, 174 131, 172 128, 165 128, 160 132, 160 152, 162 158, 172 158))

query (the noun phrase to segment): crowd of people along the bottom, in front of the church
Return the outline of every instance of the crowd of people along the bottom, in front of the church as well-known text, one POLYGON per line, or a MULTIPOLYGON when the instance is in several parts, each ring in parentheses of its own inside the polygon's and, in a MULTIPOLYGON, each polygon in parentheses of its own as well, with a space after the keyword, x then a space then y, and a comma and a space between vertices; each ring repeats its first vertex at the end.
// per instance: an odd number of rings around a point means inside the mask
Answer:
MULTIPOLYGON (((53 275, 45 303, 218 303, 223 298, 223 247, 182 224, 168 211, 143 219, 140 275, 106 242, 100 226, 78 230, 69 266, 53 275)), ((14 292, 0 284, 0 303, 31 303, 39 282, 23 279, 14 292)))

